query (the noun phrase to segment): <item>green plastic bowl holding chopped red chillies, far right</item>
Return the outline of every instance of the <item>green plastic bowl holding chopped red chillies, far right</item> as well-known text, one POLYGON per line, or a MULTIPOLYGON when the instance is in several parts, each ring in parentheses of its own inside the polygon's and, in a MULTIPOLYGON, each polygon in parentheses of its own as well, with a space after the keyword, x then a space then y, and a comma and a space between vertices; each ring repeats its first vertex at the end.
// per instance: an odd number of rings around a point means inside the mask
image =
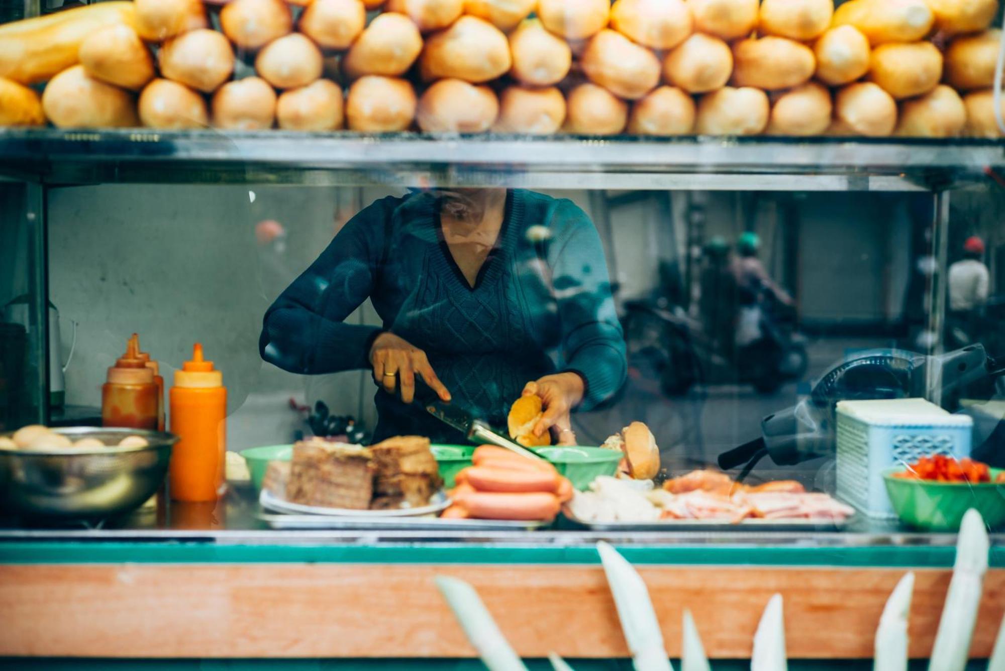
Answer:
MULTIPOLYGON (((992 480, 1002 472, 998 468, 990 470, 992 480)), ((902 466, 896 466, 883 471, 882 476, 893 510, 904 523, 929 531, 957 531, 970 508, 977 508, 992 528, 1005 523, 1005 484, 893 477, 902 471, 902 466)))

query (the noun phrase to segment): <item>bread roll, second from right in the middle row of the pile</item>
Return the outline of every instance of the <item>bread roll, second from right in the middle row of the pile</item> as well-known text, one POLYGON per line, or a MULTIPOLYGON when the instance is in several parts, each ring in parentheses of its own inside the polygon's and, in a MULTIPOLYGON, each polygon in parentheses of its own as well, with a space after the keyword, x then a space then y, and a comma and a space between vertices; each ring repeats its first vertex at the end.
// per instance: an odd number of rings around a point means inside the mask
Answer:
POLYGON ((897 99, 928 93, 942 71, 942 52, 932 42, 882 44, 869 58, 869 79, 897 99))

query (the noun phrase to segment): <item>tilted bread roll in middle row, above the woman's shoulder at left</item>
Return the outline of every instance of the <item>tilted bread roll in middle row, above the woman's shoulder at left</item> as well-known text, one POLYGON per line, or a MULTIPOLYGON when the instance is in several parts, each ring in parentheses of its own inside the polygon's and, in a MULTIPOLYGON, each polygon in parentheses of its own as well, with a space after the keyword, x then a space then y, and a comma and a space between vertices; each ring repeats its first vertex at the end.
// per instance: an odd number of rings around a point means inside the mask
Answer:
POLYGON ((404 74, 422 52, 419 29, 404 14, 378 14, 342 59, 351 78, 404 74))

